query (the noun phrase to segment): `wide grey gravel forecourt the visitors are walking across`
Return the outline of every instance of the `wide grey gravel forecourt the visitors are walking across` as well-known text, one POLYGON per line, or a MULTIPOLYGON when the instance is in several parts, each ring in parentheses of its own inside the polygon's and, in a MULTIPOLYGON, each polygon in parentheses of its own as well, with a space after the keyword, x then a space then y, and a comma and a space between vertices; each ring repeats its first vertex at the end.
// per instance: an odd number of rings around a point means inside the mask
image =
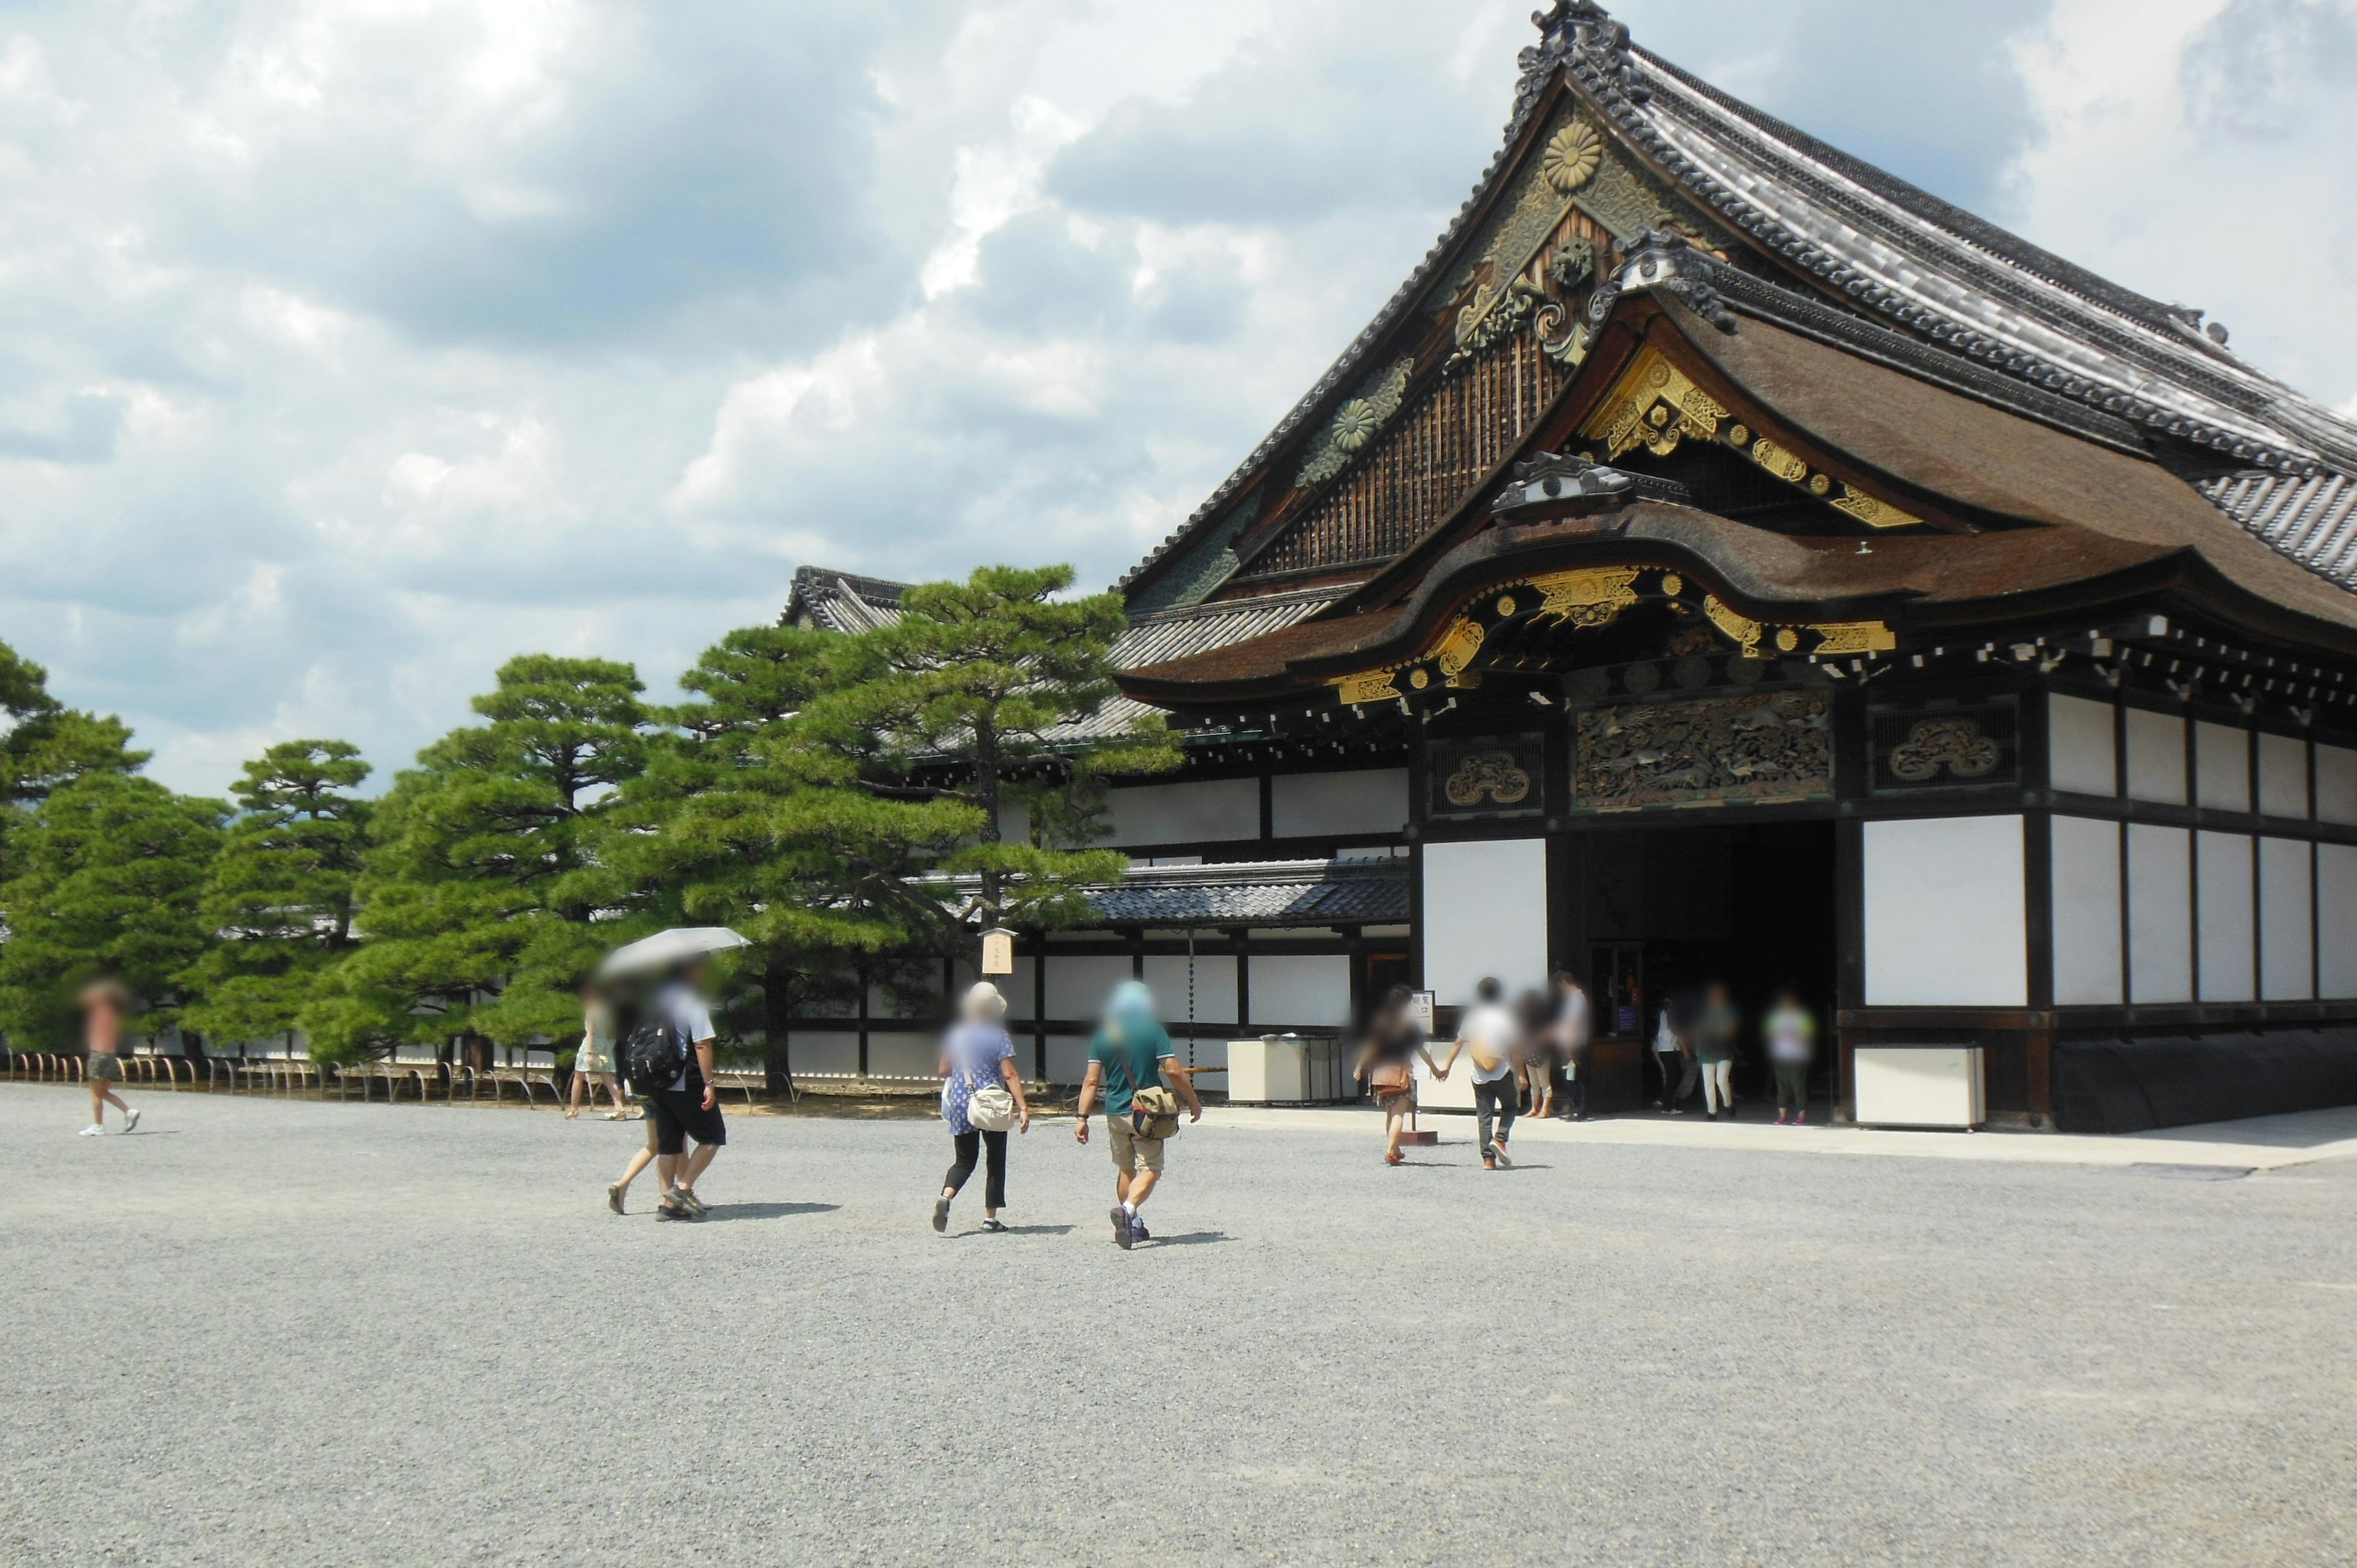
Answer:
POLYGON ((2345 1162, 1204 1125, 1122 1254, 1070 1122, 137 1103, 0 1089, 7 1563, 2357 1559, 2345 1162))

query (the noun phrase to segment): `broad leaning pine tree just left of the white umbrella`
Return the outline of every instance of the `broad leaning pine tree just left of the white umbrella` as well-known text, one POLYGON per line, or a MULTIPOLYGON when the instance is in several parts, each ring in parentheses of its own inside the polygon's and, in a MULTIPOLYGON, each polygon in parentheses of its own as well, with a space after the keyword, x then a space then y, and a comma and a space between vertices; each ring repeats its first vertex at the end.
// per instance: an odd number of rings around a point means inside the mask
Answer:
POLYGON ((521 1045, 580 1028, 573 988, 606 950, 594 846, 648 759, 629 665, 523 655, 401 773, 361 875, 368 941, 302 1028, 332 1052, 476 1030, 521 1045))

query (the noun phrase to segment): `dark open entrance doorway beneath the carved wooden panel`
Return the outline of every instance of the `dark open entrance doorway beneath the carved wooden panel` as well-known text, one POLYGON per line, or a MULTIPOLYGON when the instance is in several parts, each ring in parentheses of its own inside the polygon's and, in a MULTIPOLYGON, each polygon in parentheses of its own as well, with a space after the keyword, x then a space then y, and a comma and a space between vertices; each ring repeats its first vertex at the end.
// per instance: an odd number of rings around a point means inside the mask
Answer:
POLYGON ((1721 981, 1744 1014, 1735 1094, 1770 1096, 1758 1021, 1791 986, 1817 1014, 1813 1094, 1831 1092, 1836 976, 1834 825, 1612 825, 1582 835, 1574 908, 1596 1002, 1591 1111, 1633 1111, 1659 1094, 1652 1033, 1681 986, 1721 981))

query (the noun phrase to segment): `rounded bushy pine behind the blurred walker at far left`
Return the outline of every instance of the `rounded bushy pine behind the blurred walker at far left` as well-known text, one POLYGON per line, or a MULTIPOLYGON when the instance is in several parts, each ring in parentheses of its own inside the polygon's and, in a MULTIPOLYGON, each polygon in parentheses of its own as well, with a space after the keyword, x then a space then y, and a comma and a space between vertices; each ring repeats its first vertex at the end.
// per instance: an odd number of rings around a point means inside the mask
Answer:
POLYGON ((151 778, 94 771, 49 792, 16 828, 0 910, 0 1028, 73 1042, 73 993, 120 979, 174 1021, 177 979, 203 953, 198 901, 229 806, 151 778))

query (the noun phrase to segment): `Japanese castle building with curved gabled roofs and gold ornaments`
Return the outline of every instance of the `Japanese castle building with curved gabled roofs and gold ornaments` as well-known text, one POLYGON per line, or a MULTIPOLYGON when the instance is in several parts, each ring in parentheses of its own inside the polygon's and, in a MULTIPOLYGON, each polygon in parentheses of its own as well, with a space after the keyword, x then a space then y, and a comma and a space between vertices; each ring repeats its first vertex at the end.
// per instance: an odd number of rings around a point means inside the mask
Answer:
POLYGON ((1909 1042, 2015 1125, 2357 1101, 2357 427, 1537 21, 1464 212, 1122 580, 1188 766, 1115 792, 1103 929, 1028 943, 1032 1066, 1127 974, 1219 1040, 1572 969, 1605 1108, 1704 976, 1798 986, 1841 1108, 1909 1042))

